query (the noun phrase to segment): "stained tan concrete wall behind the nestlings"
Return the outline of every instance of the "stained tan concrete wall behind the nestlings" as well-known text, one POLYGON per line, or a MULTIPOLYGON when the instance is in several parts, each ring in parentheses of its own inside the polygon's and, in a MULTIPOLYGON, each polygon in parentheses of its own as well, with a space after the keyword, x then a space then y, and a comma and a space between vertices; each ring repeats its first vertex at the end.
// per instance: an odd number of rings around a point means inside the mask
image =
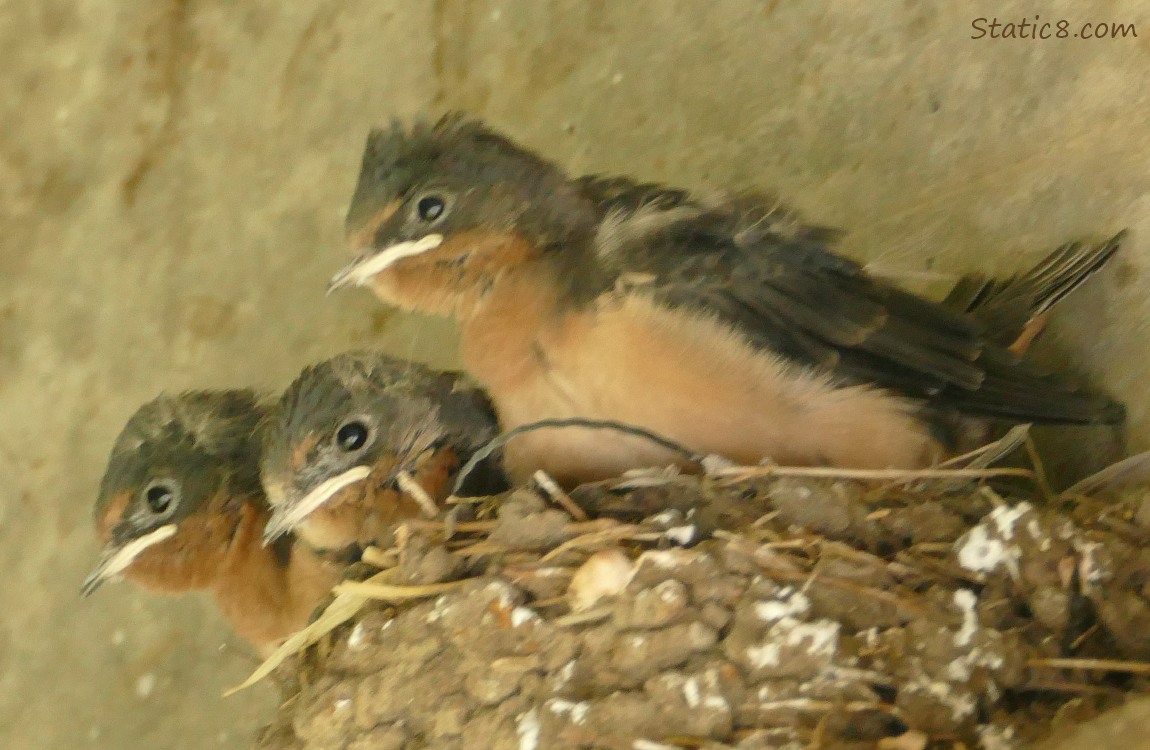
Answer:
POLYGON ((890 269, 1135 229, 1050 346, 1150 447, 1150 3, 0 3, 0 744, 239 748, 274 701, 194 598, 76 590, 110 441, 161 390, 284 385, 450 329, 324 299, 367 128, 466 108, 576 171, 774 188, 890 269), (973 17, 1137 38, 972 40, 973 17), (221 644, 227 644, 221 649, 221 644))

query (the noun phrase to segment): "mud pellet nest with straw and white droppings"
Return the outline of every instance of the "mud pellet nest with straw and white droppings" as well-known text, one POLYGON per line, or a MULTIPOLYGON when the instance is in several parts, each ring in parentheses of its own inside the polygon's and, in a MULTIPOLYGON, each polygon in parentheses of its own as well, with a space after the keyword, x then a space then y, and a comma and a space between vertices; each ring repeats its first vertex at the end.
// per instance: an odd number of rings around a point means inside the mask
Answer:
POLYGON ((1027 747, 1147 691, 1150 504, 1020 487, 645 473, 408 522, 258 747, 1027 747))

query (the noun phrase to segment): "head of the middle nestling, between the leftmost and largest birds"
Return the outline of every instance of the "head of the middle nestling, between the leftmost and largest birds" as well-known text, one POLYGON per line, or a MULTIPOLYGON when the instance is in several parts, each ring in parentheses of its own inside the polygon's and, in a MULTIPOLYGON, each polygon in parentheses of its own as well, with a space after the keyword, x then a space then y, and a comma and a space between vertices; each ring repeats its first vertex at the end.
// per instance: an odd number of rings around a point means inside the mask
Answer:
POLYGON ((454 376, 376 352, 306 368, 277 405, 261 473, 271 520, 264 543, 296 530, 313 548, 362 541, 373 513, 402 515, 400 472, 444 437, 454 376))

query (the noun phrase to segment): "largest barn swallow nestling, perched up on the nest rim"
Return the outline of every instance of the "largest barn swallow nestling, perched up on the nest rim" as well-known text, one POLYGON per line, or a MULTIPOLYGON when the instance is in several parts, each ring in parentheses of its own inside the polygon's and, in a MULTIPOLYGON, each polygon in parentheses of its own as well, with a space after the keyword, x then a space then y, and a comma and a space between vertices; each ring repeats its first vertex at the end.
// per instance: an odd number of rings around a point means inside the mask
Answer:
MULTIPOLYGON (((368 137, 347 229, 359 254, 331 286, 458 319, 505 429, 603 419, 741 462, 913 468, 944 453, 941 411, 1124 419, 976 317, 868 275, 831 251, 836 232, 775 202, 573 179, 459 116, 368 137)), ((514 476, 568 483, 670 459, 577 429, 505 452, 514 476)))

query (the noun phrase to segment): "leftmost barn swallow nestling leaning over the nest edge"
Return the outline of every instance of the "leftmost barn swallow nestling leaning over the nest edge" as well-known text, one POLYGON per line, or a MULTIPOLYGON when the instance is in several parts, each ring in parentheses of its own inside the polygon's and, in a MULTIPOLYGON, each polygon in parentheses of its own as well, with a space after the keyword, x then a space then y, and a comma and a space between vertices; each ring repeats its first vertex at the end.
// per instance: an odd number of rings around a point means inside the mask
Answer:
POLYGON ((116 439, 95 504, 105 542, 86 596, 123 574, 153 591, 208 591, 261 653, 307 625, 338 569, 285 537, 266 548, 261 422, 251 391, 160 396, 116 439))

